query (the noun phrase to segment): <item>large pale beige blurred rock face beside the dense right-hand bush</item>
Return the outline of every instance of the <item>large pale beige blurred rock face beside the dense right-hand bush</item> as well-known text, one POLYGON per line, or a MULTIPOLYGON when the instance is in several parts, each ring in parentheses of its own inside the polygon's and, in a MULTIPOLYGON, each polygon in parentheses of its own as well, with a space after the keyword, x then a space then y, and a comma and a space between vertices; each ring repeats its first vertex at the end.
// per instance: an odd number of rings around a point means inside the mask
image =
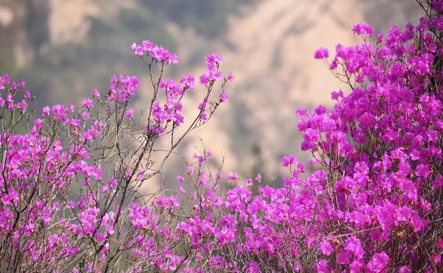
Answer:
POLYGON ((360 37, 351 31, 354 23, 366 21, 376 32, 386 32, 420 15, 414 1, 260 1, 230 19, 226 46, 213 45, 235 82, 229 109, 216 115, 208 125, 212 128, 202 130, 201 136, 215 140, 208 143, 215 151, 226 149, 227 169, 253 169, 255 144, 262 148, 262 157, 269 158, 264 169, 271 177, 278 175, 283 154, 297 153, 306 160, 309 154, 300 153, 294 110, 316 104, 330 107, 332 91, 348 91, 324 62, 313 58, 314 50, 323 46, 333 55, 338 43, 359 43, 360 37))

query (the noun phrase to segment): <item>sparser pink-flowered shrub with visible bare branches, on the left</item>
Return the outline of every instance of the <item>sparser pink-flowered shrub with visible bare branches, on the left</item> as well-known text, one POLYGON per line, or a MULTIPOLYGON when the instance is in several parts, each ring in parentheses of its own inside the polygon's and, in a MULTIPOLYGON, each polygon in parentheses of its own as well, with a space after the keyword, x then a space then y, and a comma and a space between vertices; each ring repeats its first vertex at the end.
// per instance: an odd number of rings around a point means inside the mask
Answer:
POLYGON ((228 100, 224 86, 232 75, 221 76, 221 57, 206 57, 206 92, 185 126, 181 102, 195 92, 195 78, 163 79, 177 55, 150 41, 132 50, 149 68, 153 88, 139 121, 131 108, 135 76, 114 75, 107 95, 95 90, 77 111, 57 104, 37 116, 28 111, 26 82, 0 77, 1 272, 107 272, 139 264, 172 270, 183 263, 172 254, 177 234, 168 228, 179 200, 139 189, 161 176, 174 148, 228 100), (221 92, 214 94, 217 82, 221 92), (157 163, 161 139, 170 149, 157 163))

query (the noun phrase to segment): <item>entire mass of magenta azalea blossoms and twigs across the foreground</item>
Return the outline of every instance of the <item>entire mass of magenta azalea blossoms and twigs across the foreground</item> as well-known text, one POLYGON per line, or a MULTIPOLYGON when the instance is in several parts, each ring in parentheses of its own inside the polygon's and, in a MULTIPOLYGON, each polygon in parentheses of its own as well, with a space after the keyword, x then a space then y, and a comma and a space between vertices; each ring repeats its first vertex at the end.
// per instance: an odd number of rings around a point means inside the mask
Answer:
POLYGON ((186 120, 181 101, 195 78, 163 79, 177 55, 150 41, 132 46, 153 88, 138 119, 134 76, 114 76, 78 111, 55 105, 34 117, 25 82, 3 75, 0 271, 443 272, 443 1, 419 4, 417 26, 372 43, 359 23, 362 44, 338 44, 332 59, 316 50, 349 85, 332 93, 332 111, 296 111, 318 169, 302 179, 304 165, 284 156, 282 187, 257 193, 260 174, 224 180, 206 150, 177 176, 176 194, 140 191, 228 101, 232 75, 221 75, 218 55, 206 57, 206 92, 186 120), (161 139, 170 149, 156 149, 161 139))

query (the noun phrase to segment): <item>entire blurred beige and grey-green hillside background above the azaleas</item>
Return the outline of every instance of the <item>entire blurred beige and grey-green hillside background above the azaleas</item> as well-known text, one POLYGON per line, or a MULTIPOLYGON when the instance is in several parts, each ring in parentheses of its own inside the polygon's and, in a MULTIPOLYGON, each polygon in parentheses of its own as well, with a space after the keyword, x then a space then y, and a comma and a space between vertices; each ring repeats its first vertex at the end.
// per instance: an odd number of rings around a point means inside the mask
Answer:
MULTIPOLYGON (((226 170, 243 177, 260 171, 271 181, 284 154, 309 159, 300 152, 296 107, 331 107, 331 91, 348 91, 314 60, 314 50, 358 43, 354 23, 386 32, 421 14, 414 0, 0 0, 0 74, 25 78, 36 110, 79 104, 94 88, 106 92, 113 74, 136 75, 135 107, 143 110, 150 86, 129 48, 134 41, 177 52, 179 65, 169 70, 175 78, 187 71, 198 77, 204 56, 219 53, 222 70, 235 77, 230 102, 179 153, 190 157, 202 138, 218 160, 224 153, 226 170)), ((172 159, 171 177, 181 172, 179 162, 172 159)))

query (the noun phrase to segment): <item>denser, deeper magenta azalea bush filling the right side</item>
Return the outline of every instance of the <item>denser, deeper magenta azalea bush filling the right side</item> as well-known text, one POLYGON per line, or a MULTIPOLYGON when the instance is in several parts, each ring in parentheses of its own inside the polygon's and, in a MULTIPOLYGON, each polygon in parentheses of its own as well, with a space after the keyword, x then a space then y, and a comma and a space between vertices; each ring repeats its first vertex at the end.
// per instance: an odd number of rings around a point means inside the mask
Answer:
POLYGON ((284 156, 283 187, 254 194, 253 180, 231 171, 220 200, 218 174, 201 171, 206 160, 195 156, 189 177, 177 178, 193 204, 176 229, 189 242, 176 252, 186 257, 183 270, 442 271, 440 22, 435 15, 393 27, 374 44, 360 23, 353 32, 362 44, 339 44, 332 62, 327 49, 316 51, 350 92, 332 93, 332 111, 296 111, 301 148, 320 166, 307 178, 296 156, 284 156))

